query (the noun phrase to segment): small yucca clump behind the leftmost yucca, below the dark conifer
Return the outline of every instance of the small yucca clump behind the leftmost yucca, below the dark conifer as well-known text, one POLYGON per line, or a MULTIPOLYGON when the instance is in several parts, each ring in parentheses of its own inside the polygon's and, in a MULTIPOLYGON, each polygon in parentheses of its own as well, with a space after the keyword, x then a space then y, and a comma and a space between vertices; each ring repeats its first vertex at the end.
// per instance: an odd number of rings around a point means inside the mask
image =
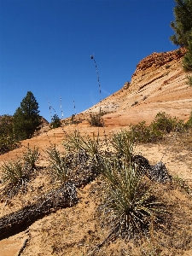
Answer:
POLYGON ((27 148, 27 151, 23 154, 23 160, 25 161, 26 166, 29 166, 32 170, 36 168, 36 162, 39 157, 38 148, 27 148))

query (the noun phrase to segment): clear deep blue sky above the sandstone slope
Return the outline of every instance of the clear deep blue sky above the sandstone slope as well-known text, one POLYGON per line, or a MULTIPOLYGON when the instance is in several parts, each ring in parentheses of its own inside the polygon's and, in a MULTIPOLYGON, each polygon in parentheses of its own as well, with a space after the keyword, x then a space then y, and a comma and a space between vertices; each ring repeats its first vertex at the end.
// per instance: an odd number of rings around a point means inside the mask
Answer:
POLYGON ((28 90, 49 121, 49 103, 68 117, 113 94, 144 57, 177 48, 169 40, 174 6, 173 0, 0 0, 0 115, 14 114, 28 90))

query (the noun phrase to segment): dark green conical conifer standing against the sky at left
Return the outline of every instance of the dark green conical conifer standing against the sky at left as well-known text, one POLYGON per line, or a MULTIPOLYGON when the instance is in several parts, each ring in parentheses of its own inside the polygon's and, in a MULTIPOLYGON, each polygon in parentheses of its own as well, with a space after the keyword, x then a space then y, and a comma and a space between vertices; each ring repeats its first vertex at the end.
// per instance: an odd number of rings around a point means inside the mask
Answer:
POLYGON ((14 114, 14 133, 18 140, 32 137, 35 130, 41 124, 38 110, 38 102, 31 91, 27 91, 26 97, 20 102, 20 107, 14 114))

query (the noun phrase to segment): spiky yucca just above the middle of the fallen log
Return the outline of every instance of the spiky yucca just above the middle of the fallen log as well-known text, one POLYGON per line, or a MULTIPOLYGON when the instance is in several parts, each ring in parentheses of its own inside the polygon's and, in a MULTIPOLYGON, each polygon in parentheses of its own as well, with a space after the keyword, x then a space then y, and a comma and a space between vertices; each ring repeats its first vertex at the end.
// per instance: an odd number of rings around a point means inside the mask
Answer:
POLYGON ((55 181, 66 183, 69 179, 67 156, 61 154, 60 151, 55 148, 55 145, 48 148, 46 152, 49 155, 49 170, 51 177, 53 177, 55 181))

